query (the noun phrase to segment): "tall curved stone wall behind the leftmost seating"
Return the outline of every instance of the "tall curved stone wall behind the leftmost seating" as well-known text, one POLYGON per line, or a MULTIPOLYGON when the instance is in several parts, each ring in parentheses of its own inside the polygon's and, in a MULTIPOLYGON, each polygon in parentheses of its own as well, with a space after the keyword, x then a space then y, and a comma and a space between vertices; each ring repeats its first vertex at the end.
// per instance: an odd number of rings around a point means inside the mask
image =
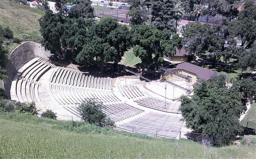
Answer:
POLYGON ((6 72, 8 78, 3 80, 3 87, 5 94, 10 98, 10 89, 12 85, 12 79, 16 75, 17 71, 27 62, 33 58, 44 58, 49 60, 51 53, 45 51, 44 47, 39 43, 27 41, 18 45, 9 56, 9 60, 6 64, 6 72))

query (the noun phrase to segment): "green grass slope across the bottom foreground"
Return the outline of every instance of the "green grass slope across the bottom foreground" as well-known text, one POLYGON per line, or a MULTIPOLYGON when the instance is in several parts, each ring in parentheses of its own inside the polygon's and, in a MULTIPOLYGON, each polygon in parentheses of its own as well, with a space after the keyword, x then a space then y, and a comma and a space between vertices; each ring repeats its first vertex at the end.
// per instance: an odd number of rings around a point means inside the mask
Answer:
POLYGON ((0 158, 254 158, 256 145, 203 147, 84 122, 0 112, 0 158))

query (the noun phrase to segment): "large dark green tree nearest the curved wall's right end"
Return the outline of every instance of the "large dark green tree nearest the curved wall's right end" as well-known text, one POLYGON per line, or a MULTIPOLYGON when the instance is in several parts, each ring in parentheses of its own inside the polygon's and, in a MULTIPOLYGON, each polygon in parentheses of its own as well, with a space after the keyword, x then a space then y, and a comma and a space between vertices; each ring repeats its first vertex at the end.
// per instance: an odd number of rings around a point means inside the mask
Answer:
POLYGON ((55 55, 61 55, 63 60, 66 60, 68 53, 76 57, 88 41, 87 29, 92 23, 92 20, 70 19, 61 12, 53 14, 47 11, 39 19, 40 32, 43 36, 41 44, 55 55))

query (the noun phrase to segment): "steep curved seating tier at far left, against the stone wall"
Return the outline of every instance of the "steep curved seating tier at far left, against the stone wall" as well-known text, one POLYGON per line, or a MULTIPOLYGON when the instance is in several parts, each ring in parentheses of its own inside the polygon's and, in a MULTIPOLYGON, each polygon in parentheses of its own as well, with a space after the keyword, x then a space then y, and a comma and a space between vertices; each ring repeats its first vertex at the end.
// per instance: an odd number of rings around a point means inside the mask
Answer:
POLYGON ((19 69, 12 81, 11 99, 20 102, 40 101, 38 80, 51 67, 55 67, 41 58, 34 58, 19 69))

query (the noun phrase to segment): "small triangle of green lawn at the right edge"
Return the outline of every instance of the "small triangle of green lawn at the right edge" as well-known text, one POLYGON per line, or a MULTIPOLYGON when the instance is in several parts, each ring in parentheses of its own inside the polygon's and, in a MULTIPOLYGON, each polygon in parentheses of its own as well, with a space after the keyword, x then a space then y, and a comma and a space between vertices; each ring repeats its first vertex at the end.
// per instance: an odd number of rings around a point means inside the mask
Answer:
POLYGON ((243 125, 246 127, 246 123, 248 121, 248 127, 256 129, 256 103, 253 102, 252 106, 244 116, 244 119, 242 120, 243 125), (254 124, 250 124, 254 123, 254 124))

